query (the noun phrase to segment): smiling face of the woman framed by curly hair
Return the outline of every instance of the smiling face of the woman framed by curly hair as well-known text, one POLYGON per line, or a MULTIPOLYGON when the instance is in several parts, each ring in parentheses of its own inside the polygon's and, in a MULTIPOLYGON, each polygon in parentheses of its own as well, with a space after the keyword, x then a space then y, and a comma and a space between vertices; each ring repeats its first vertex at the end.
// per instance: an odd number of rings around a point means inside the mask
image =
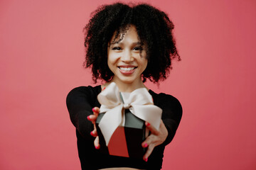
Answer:
MULTIPOLYGON (((119 42, 110 40, 107 51, 107 65, 114 73, 113 81, 116 83, 140 83, 142 72, 146 69, 146 47, 141 45, 135 26, 130 26, 119 42)), ((120 35, 119 35, 120 36, 120 35)), ((122 36, 122 35, 121 35, 122 36)), ((115 41, 119 40, 119 37, 115 41)))

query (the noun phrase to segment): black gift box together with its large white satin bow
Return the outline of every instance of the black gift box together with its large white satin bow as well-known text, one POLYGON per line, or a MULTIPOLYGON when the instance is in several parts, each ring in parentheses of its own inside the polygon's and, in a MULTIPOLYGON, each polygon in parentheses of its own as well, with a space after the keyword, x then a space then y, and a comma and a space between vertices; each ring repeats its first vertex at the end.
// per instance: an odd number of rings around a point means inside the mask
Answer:
POLYGON ((96 120, 100 152, 119 157, 142 159, 142 142, 149 135, 145 121, 159 130, 161 108, 154 106, 145 88, 122 93, 111 83, 97 96, 100 114, 96 120))

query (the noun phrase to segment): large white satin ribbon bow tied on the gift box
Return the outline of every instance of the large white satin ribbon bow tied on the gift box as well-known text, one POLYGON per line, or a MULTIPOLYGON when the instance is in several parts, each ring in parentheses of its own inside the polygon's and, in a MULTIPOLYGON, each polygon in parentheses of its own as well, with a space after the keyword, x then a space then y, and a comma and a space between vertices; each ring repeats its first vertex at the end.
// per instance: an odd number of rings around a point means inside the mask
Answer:
POLYGON ((121 93, 124 99, 120 98, 119 89, 116 84, 111 83, 102 91, 97 99, 100 102, 100 113, 105 113, 99 123, 102 135, 105 138, 106 145, 119 125, 124 125, 124 109, 129 108, 132 114, 137 116, 159 130, 161 121, 161 108, 154 106, 149 91, 140 88, 132 93, 121 93), (123 109, 124 108, 124 109, 123 109))

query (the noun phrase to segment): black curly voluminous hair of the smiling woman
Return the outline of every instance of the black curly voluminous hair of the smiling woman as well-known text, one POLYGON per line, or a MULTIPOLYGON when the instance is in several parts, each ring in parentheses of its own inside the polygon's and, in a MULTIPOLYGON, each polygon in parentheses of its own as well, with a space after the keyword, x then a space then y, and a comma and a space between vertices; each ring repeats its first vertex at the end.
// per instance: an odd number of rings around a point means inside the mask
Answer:
MULTIPOLYGON (((174 24, 163 11, 148 4, 104 5, 92 12, 92 18, 85 26, 86 57, 84 66, 92 67, 92 79, 110 81, 113 73, 107 66, 107 48, 115 34, 122 35, 127 27, 137 28, 139 40, 146 44, 148 64, 142 73, 143 81, 154 83, 164 80, 171 69, 171 60, 181 60, 172 34, 174 24)), ((121 36, 122 39, 122 36, 121 36)))

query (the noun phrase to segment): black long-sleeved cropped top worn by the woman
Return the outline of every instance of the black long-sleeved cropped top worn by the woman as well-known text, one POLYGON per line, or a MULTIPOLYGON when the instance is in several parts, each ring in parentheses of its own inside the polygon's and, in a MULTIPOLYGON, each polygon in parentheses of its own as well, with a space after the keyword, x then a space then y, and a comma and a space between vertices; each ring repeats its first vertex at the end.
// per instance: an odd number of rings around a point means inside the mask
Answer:
POLYGON ((181 103, 174 96, 167 94, 156 94, 149 90, 153 97, 154 105, 163 110, 161 119, 166 125, 168 136, 166 141, 156 146, 151 153, 148 162, 143 159, 132 159, 127 157, 116 157, 95 149, 95 137, 90 135, 93 130, 92 123, 87 116, 93 114, 92 108, 99 107, 97 95, 101 92, 101 86, 80 86, 67 96, 67 107, 70 113, 70 120, 75 125, 78 137, 78 154, 82 169, 104 169, 110 167, 131 167, 135 169, 161 169, 164 157, 164 147, 174 138, 178 124, 181 121, 181 103))

